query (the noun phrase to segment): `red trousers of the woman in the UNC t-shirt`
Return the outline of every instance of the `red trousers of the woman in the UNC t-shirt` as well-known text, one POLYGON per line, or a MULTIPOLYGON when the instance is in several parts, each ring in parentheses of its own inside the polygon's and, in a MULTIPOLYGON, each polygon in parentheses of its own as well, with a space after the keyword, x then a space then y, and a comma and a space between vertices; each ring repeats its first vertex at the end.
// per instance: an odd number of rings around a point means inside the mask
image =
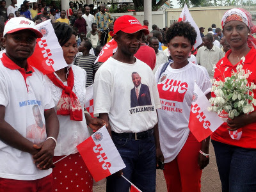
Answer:
POLYGON ((164 165, 168 192, 200 192, 202 170, 198 166, 201 143, 190 132, 188 140, 173 161, 164 165))

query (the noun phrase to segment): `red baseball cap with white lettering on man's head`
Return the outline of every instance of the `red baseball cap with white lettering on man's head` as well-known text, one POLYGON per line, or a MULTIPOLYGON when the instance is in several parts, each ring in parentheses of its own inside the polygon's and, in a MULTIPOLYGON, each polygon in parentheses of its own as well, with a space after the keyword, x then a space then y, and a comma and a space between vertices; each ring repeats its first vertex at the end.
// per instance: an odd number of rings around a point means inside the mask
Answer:
POLYGON ((143 28, 138 19, 132 17, 131 15, 124 15, 122 17, 118 17, 114 24, 114 34, 116 34, 118 31, 123 31, 124 33, 131 34, 141 30, 145 35, 149 34, 148 29, 143 28))

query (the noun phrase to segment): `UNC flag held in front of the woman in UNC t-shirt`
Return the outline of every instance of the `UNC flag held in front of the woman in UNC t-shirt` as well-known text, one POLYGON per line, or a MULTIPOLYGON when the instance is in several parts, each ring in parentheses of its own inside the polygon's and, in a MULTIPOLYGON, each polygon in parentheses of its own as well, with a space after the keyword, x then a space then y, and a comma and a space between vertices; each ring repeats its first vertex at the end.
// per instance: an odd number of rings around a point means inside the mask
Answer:
POLYGON ((199 142, 207 138, 223 124, 215 112, 207 110, 211 104, 195 83, 188 127, 199 142))

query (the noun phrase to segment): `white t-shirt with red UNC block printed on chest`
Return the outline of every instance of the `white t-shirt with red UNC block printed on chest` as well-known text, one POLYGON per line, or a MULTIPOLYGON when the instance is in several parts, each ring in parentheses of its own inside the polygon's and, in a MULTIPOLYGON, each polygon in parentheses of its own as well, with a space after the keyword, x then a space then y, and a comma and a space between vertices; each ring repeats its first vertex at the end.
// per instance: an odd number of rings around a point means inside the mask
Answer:
POLYGON ((205 94, 211 91, 211 82, 207 70, 191 62, 179 69, 168 65, 159 78, 162 67, 163 65, 155 74, 162 104, 162 108, 157 109, 158 127, 164 163, 169 163, 179 154, 189 135, 188 122, 194 82, 205 94))

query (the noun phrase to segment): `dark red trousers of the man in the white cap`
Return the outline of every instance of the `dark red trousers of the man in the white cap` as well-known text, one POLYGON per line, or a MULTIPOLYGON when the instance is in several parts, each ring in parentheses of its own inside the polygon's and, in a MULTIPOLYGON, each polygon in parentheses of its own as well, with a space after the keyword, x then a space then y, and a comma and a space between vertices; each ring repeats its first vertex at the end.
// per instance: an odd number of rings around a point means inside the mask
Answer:
POLYGON ((36 180, 0 178, 0 192, 49 192, 52 190, 52 174, 36 180))

